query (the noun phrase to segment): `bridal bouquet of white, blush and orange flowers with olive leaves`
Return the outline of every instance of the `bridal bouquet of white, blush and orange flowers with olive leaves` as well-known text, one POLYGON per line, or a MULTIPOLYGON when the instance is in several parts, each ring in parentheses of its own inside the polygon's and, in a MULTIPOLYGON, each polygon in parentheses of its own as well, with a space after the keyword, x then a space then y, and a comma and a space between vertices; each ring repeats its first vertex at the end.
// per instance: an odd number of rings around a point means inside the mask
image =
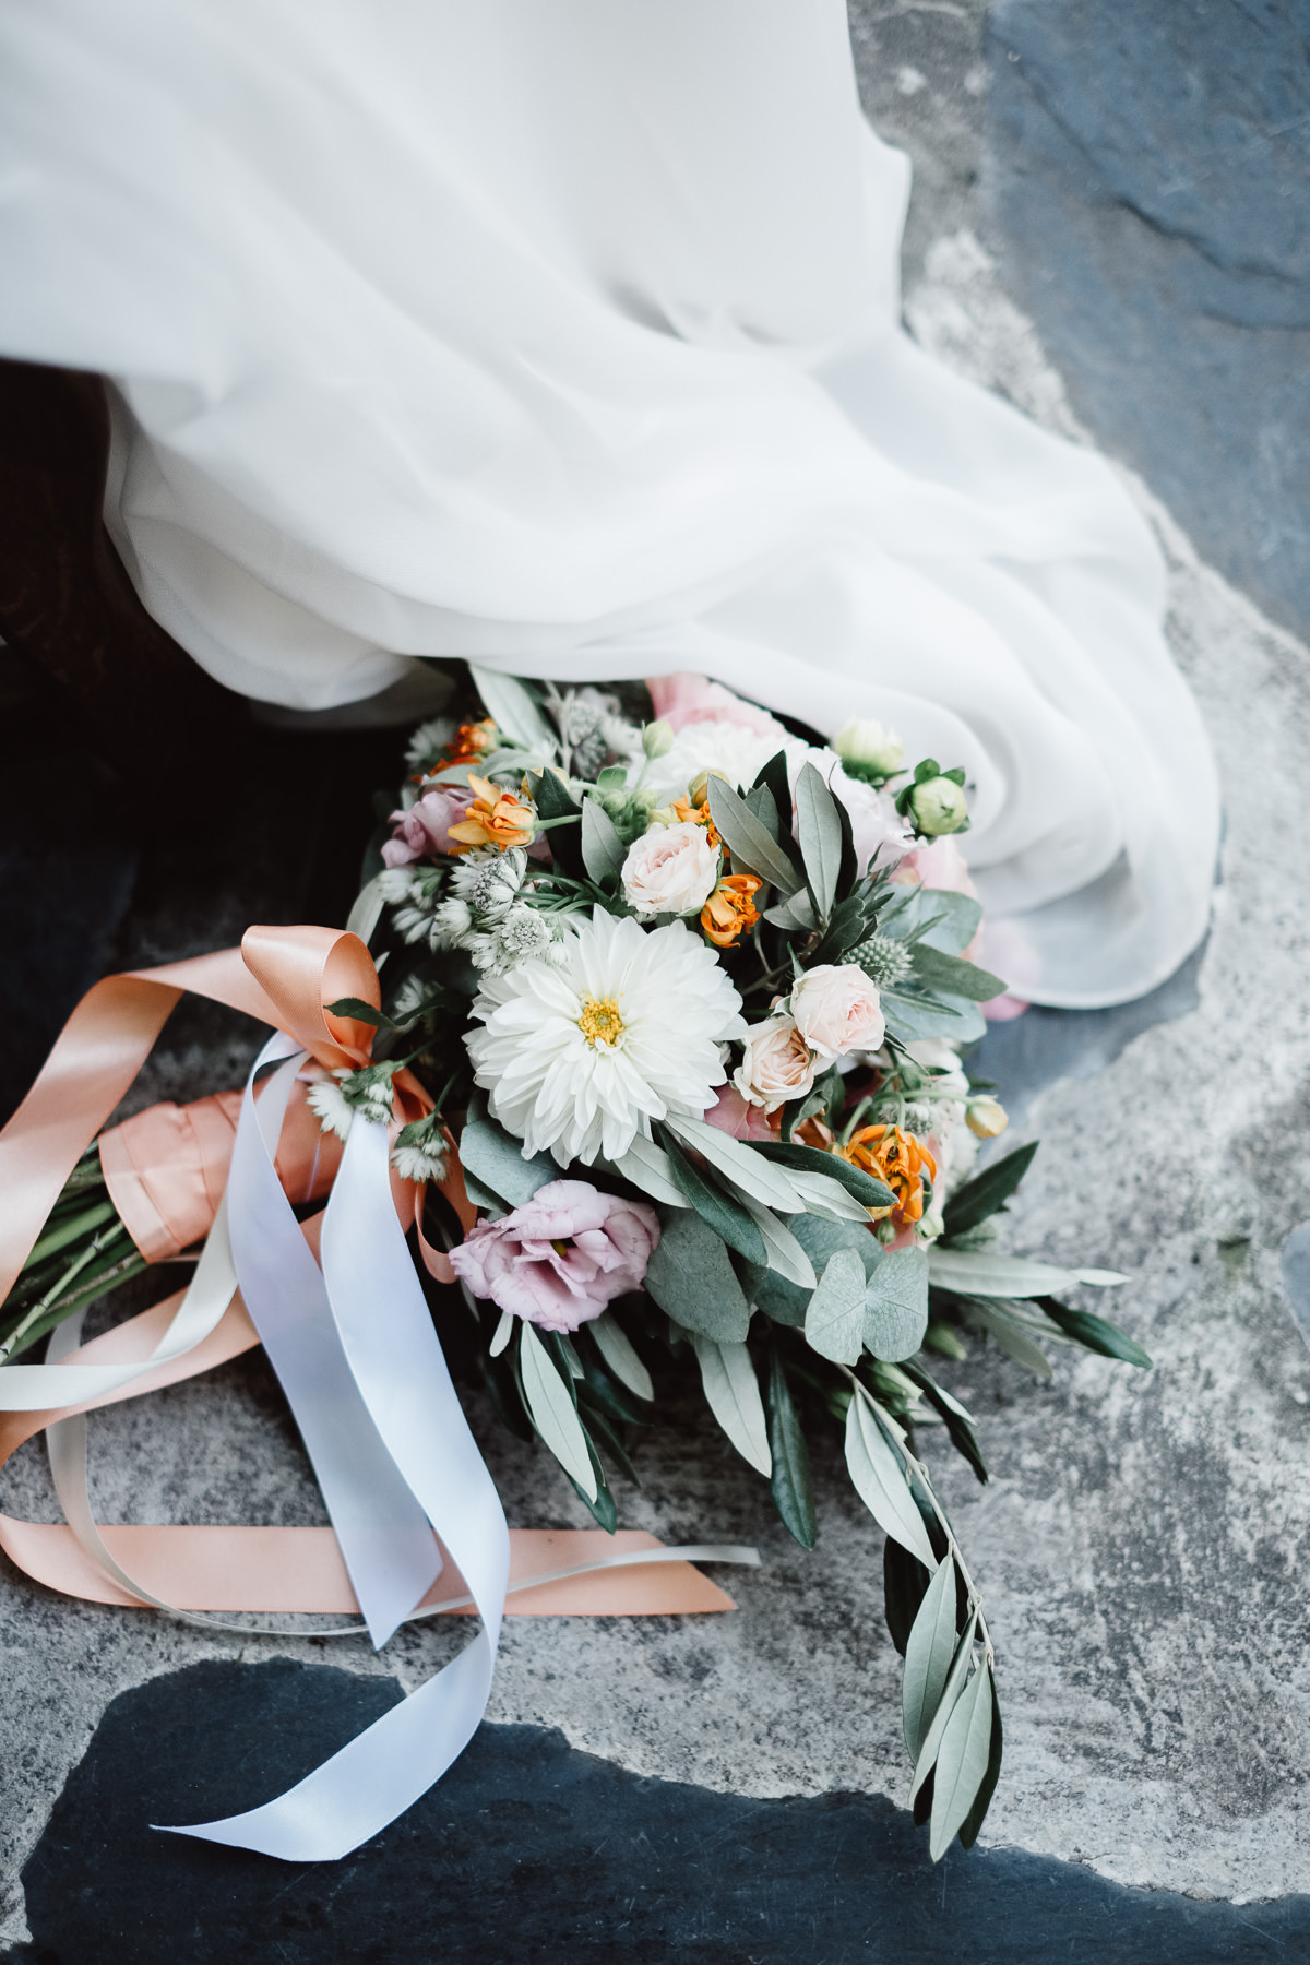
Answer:
MULTIPOLYGON (((1000 1770, 994 1651, 921 1432, 988 1476, 931 1360, 968 1338, 1037 1372, 1047 1338, 1149 1360, 1064 1301, 1121 1277, 1000 1250, 1035 1146, 974 1171, 1006 1112, 960 1053, 1006 984, 976 959, 964 772, 907 768, 874 723, 829 749, 693 676, 460 688, 371 847, 350 927, 381 1006, 326 1010, 373 1043, 300 1073, 293 1199, 359 1120, 389 1128, 438 1330, 464 1346, 473 1313, 499 1415, 605 1529, 687 1379, 807 1548, 807 1436, 841 1427, 886 1533, 915 1818, 933 1857, 968 1845, 1000 1770)), ((84 1157, 0 1358, 141 1262, 84 1157)))

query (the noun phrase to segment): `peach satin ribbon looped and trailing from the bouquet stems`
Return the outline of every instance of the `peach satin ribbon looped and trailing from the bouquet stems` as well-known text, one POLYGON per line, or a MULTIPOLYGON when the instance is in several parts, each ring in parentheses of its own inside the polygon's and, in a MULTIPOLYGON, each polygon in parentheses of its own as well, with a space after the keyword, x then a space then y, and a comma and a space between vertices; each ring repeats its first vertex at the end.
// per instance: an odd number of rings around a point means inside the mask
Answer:
MULTIPOLYGON (((124 1098, 185 990, 289 1032, 328 1069, 367 1063, 373 1030, 354 1018, 332 1016, 324 1004, 342 996, 373 1006, 381 1002, 377 971, 365 945, 355 935, 324 927, 251 927, 240 949, 128 971, 96 982, 69 1018, 22 1106, 0 1132, 0 1295, 14 1285, 77 1159, 124 1098)), ((409 1073, 399 1077, 409 1079, 403 1085, 407 1110, 422 1110, 426 1095, 418 1083, 409 1073)), ((395 1185, 401 1218, 412 1218, 412 1187, 395 1185)), ((454 1153, 446 1191, 467 1226, 471 1210, 454 1153)), ((151 1199, 157 1216, 167 1212, 173 1218, 171 1207, 161 1210, 157 1197, 151 1199)), ((191 1214, 183 1208, 179 1220, 198 1218, 194 1195, 189 1207, 191 1214)), ((212 1216, 208 1201, 206 1212, 212 1216)), ((306 1224, 310 1240, 314 1226, 306 1224)), ((424 1260, 440 1273, 444 1258, 426 1242, 424 1260)), ((51 1377, 79 1366, 137 1368, 128 1383, 81 1403, 0 1413, 0 1468, 24 1440, 61 1419, 179 1383, 259 1342, 240 1295, 234 1295, 220 1322, 185 1356, 139 1370, 169 1330, 181 1301, 179 1291, 49 1368, 51 1377)), ((4 1376, 20 1370, 24 1368, 6 1366, 4 1376)), ((355 1609, 332 1529, 141 1525, 104 1527, 100 1535, 124 1570, 183 1611, 355 1609)), ((51 1590, 139 1607, 139 1600, 96 1566, 65 1523, 0 1515, 0 1548, 20 1570, 51 1590)), ((689 1562, 668 1560, 672 1554, 640 1531, 621 1531, 617 1537, 603 1531, 511 1531, 513 1596, 507 1611, 613 1617, 735 1607, 689 1562), (642 1562, 646 1552, 650 1556, 642 1562), (613 1566, 615 1556, 621 1566, 613 1566), (534 1576, 554 1578, 560 1570, 591 1562, 607 1566, 524 1588, 534 1576)), ((452 1611, 467 1607, 454 1564, 442 1572, 416 1615, 432 1615, 444 1605, 452 1611)))

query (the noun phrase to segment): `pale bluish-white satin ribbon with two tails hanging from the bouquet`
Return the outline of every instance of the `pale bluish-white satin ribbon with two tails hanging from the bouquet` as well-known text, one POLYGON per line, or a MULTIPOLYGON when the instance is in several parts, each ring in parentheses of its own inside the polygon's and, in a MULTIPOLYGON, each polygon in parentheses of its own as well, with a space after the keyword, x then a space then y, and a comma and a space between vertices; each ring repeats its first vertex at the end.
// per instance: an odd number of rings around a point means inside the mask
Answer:
MULTIPOLYGON (((285 1055, 289 1039, 271 1039, 261 1063, 285 1055)), ((354 1558, 371 1601, 346 1544, 342 1554, 369 1627, 375 1617, 377 1627, 385 1627, 379 1600, 401 1603, 410 1592, 397 1609, 399 1621, 436 1576, 432 1564, 422 1588, 412 1592, 422 1570, 412 1564, 414 1509, 440 1533, 481 1615, 481 1631, 458 1658, 287 1794, 242 1816, 169 1829, 289 1863, 316 1863, 348 1855, 385 1829, 426 1794, 477 1731, 505 1611, 509 1529, 405 1248, 391 1199, 385 1126, 355 1116, 350 1128, 322 1228, 322 1269, 312 1263, 299 1228, 299 1254, 293 1254, 287 1220, 295 1226, 295 1216, 277 1185, 273 1148, 279 1098, 285 1108, 299 1057, 283 1065, 287 1085, 273 1081, 257 1108, 251 1073, 238 1124, 228 1193, 232 1216, 240 1220, 234 1256, 242 1297, 297 1415, 338 1539, 338 1509, 350 1525, 354 1558), (277 1187, 281 1214, 269 1183, 277 1187), (367 1421, 365 1448, 354 1438, 361 1419, 367 1421), (377 1446, 387 1458, 381 1476, 377 1446), (365 1484, 373 1480, 377 1488, 369 1489, 365 1484), (405 1505, 397 1505, 401 1484, 405 1505), (381 1537, 381 1552, 373 1550, 377 1560, 369 1560, 363 1535, 369 1523, 381 1537)))

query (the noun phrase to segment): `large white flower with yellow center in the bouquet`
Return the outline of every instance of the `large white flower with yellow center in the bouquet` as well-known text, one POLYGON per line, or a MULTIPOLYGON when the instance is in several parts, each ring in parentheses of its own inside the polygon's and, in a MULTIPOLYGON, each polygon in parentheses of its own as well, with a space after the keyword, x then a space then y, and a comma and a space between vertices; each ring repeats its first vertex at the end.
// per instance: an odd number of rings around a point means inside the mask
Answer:
POLYGON ((562 1167, 621 1159, 670 1112, 699 1116, 744 1032, 740 996, 682 922, 648 931, 597 908, 554 961, 487 977, 465 1036, 495 1118, 562 1167))

